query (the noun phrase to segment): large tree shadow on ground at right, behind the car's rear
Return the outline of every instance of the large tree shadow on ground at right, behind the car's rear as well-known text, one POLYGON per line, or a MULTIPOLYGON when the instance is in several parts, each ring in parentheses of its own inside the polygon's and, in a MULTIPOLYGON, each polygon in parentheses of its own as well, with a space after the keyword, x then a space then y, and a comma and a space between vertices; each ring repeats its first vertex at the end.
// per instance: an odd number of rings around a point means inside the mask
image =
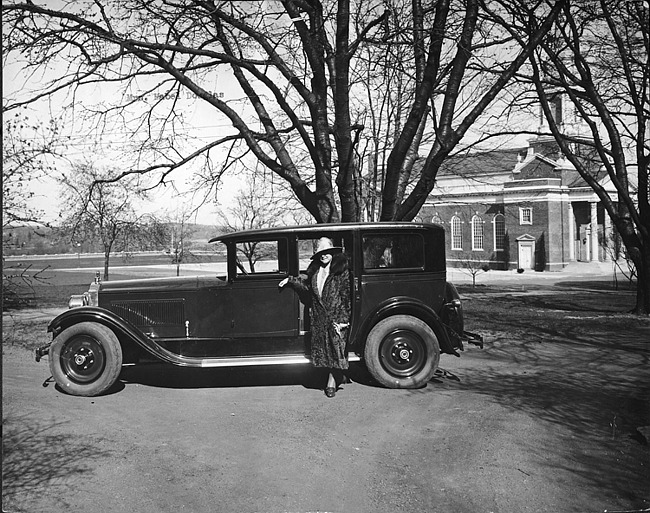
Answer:
POLYGON ((648 507, 650 452, 639 428, 650 426, 650 321, 611 314, 620 300, 611 292, 588 303, 584 292, 580 301, 559 294, 469 302, 472 331, 488 336, 457 386, 548 423, 558 443, 529 450, 603 490, 611 502, 602 509, 648 507))

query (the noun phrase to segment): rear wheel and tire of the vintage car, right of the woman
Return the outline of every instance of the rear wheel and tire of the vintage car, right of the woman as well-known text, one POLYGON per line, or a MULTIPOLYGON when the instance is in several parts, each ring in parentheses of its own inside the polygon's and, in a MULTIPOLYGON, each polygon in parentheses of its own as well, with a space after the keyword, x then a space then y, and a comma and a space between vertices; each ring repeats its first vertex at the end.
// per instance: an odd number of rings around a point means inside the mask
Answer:
POLYGON ((427 323, 411 315, 379 321, 368 334, 366 366, 388 388, 420 388, 440 362, 440 344, 427 323))

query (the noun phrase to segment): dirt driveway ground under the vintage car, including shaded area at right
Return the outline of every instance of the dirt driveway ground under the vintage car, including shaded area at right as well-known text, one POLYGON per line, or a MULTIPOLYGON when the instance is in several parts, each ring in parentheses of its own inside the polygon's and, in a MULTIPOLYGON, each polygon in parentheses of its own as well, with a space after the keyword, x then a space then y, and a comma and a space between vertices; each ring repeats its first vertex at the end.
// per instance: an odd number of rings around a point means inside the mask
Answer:
POLYGON ((334 399, 309 367, 161 365, 125 368, 104 397, 72 397, 5 343, 4 510, 649 508, 648 323, 540 296, 477 294, 468 307, 484 349, 443 356, 420 390, 379 388, 357 368, 334 399))

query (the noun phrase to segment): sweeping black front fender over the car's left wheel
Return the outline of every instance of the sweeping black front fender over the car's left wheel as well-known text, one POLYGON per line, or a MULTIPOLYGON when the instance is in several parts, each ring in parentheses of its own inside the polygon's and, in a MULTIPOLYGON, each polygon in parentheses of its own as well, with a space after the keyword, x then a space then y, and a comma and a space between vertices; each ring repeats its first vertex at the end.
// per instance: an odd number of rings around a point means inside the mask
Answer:
POLYGON ((96 322, 98 324, 103 324, 117 335, 121 344, 129 342, 136 343, 145 351, 163 362, 188 367, 201 365, 199 359, 183 357, 161 347, 133 324, 118 317, 110 310, 98 306, 81 306, 66 310, 50 321, 47 326, 47 331, 51 332, 53 336, 56 337, 66 328, 80 322, 96 322))

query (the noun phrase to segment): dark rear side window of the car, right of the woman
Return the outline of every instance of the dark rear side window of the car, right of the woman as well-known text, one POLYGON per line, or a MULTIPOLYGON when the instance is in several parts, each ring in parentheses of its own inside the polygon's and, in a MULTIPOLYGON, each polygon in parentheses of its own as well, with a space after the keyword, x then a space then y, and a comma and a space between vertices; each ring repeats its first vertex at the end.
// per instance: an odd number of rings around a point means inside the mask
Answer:
POLYGON ((424 239, 417 233, 366 234, 363 236, 363 268, 424 268, 424 239))

